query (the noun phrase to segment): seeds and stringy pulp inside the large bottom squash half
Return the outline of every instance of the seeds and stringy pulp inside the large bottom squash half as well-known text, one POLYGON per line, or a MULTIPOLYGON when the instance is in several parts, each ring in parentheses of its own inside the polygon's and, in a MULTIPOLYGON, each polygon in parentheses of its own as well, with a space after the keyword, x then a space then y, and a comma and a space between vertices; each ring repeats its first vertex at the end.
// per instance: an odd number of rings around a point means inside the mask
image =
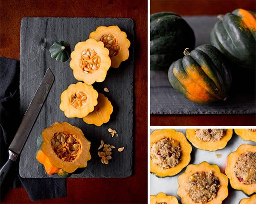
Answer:
POLYGON ((51 140, 51 147, 62 161, 72 162, 81 152, 81 144, 76 135, 68 132, 57 132, 51 140))

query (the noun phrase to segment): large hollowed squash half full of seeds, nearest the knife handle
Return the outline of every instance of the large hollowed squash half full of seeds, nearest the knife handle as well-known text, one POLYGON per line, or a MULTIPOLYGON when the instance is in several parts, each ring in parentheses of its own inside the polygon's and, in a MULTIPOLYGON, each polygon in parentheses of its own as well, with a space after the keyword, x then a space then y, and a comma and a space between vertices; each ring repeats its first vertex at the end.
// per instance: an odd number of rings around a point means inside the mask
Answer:
POLYGON ((91 159, 90 142, 78 127, 67 122, 55 122, 42 132, 41 148, 36 158, 52 175, 63 176, 77 168, 87 167, 91 159))

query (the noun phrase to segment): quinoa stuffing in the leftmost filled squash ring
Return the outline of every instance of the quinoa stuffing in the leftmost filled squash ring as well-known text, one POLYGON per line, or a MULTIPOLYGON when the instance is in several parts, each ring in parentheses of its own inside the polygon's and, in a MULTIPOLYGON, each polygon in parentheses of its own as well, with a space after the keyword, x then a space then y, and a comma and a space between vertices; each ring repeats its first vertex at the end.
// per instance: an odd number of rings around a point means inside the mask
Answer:
POLYGON ((163 138, 152 144, 150 149, 153 164, 157 164, 162 169, 175 167, 180 162, 180 155, 180 144, 172 138, 163 138))

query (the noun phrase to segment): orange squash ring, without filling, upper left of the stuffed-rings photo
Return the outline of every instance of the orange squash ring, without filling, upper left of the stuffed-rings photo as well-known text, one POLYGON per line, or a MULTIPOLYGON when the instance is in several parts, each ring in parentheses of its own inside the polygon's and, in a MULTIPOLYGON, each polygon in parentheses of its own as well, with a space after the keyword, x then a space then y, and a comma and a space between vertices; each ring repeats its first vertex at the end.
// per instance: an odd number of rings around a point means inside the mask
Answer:
POLYGON ((179 173, 184 167, 186 167, 190 162, 190 153, 192 147, 186 140, 185 135, 182 132, 176 131, 174 129, 157 129, 150 134, 150 149, 153 144, 161 141, 164 138, 170 138, 179 144, 181 154, 180 161, 175 165, 175 167, 163 169, 158 164, 154 164, 152 158, 150 158, 150 172, 157 177, 173 176, 179 173))

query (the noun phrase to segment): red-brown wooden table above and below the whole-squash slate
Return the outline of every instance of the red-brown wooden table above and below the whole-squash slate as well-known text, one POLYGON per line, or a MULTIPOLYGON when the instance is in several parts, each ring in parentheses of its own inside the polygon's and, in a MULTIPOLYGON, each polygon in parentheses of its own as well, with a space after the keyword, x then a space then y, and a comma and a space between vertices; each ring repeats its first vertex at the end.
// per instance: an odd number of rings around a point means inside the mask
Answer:
MULTIPOLYGON (((237 8, 255 10, 254 0, 151 0, 150 13, 172 11, 180 15, 217 15, 237 8)), ((256 106, 256 105, 255 105, 256 106)), ((151 126, 253 126, 256 114, 151 115, 151 126)))

